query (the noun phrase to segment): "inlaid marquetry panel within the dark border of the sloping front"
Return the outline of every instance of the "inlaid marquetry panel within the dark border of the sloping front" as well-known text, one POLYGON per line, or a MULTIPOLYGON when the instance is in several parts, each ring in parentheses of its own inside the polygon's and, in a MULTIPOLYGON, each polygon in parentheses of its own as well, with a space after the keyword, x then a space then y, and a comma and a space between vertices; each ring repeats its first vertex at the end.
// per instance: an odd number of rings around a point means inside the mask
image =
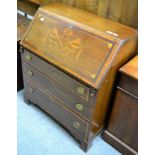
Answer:
POLYGON ((91 81, 97 78, 114 46, 71 23, 42 14, 36 17, 24 42, 54 64, 91 81))

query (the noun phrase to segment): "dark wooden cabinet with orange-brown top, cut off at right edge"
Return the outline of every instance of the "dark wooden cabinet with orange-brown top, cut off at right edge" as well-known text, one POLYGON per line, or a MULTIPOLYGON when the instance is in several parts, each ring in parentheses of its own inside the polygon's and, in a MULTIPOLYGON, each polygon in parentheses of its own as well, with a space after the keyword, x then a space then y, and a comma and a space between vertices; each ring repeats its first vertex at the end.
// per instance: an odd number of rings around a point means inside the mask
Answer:
POLYGON ((124 155, 138 153, 138 56, 120 68, 112 113, 103 139, 124 155))

